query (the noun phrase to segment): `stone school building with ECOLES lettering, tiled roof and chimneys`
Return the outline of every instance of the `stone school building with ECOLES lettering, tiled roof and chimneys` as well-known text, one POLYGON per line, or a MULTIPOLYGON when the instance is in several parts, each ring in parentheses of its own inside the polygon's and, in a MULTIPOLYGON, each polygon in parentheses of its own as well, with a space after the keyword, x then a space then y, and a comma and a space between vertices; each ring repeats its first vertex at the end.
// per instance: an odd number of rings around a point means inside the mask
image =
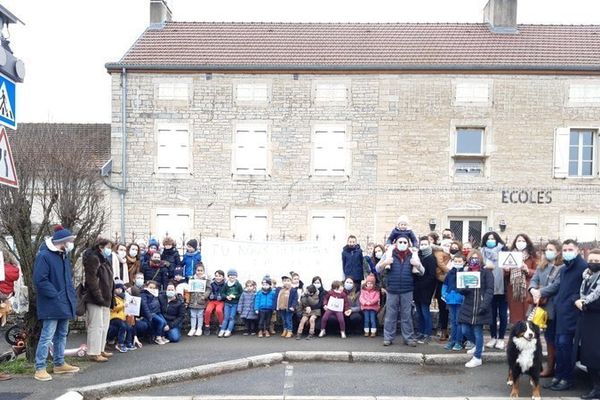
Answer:
MULTIPOLYGON (((600 238, 600 26, 151 23, 112 77, 112 232, 600 238)), ((179 239, 181 242, 181 239, 179 239)))

